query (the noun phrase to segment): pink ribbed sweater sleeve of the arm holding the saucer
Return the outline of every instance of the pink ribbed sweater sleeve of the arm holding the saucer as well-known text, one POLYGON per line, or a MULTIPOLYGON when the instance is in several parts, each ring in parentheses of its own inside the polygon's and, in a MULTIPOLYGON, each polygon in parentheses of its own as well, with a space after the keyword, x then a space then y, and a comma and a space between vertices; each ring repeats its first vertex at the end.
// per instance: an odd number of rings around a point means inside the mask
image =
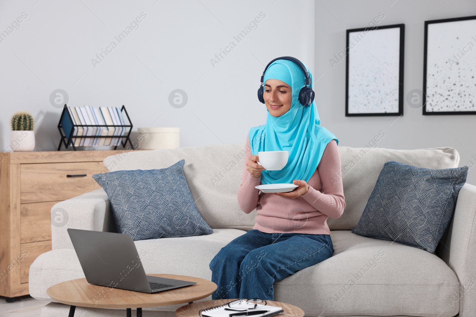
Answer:
POLYGON ((322 192, 309 186, 309 190, 302 197, 317 211, 331 218, 339 218, 346 207, 340 154, 335 139, 332 139, 324 149, 322 158, 317 165, 322 182, 322 192))

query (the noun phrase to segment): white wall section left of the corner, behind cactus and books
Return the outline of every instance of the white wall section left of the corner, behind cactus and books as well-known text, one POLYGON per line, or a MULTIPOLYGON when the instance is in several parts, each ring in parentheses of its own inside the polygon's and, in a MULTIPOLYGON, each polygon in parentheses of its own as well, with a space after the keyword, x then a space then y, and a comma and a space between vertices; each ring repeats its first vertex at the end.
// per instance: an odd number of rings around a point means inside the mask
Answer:
POLYGON ((35 151, 56 150, 61 110, 49 98, 58 88, 69 106, 125 105, 133 130, 178 126, 181 146, 244 142, 250 127, 266 122, 256 96, 264 66, 290 55, 314 69, 312 1, 37 1, 0 2, 0 32, 28 14, 0 43, 2 150, 18 110, 38 121, 35 151), (141 12, 139 29, 119 43, 114 37, 141 12), (260 12, 266 17, 238 43, 233 37, 260 12), (117 47, 93 67, 112 41, 117 47), (231 41, 236 47, 213 67, 210 59, 231 41), (177 88, 188 94, 181 109, 168 101, 177 88))

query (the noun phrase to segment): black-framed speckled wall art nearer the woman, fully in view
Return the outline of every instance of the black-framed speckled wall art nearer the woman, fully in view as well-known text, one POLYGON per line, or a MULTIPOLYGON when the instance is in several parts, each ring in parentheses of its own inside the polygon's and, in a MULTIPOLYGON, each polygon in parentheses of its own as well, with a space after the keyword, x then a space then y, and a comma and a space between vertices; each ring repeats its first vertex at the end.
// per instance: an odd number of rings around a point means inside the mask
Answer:
POLYGON ((403 115, 405 25, 347 30, 346 116, 403 115))

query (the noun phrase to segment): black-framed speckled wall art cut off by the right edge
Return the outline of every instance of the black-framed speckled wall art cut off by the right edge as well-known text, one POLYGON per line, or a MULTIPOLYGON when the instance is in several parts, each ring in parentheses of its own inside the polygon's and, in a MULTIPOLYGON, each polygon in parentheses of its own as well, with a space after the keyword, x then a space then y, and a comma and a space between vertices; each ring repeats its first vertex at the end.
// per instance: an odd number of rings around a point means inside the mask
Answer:
POLYGON ((423 115, 476 115, 476 16, 425 21, 423 115))

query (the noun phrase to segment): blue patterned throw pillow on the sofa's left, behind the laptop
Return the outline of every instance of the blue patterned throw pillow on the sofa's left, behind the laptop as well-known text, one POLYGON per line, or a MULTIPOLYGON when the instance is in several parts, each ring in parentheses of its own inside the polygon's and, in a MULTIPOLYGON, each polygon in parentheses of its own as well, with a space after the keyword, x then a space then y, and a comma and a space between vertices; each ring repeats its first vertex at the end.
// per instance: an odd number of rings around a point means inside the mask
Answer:
POLYGON ((92 176, 108 194, 119 233, 135 241, 213 233, 193 202, 184 164, 92 176))

